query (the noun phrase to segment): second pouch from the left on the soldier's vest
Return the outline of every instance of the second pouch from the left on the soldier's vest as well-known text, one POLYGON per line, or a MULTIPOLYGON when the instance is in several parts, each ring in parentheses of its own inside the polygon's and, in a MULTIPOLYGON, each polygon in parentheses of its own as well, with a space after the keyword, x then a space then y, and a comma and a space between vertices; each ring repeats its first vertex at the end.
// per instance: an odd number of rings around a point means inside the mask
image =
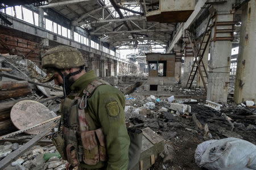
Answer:
POLYGON ((64 128, 64 134, 67 141, 66 153, 67 160, 72 165, 72 167, 76 167, 79 165, 79 157, 77 153, 77 137, 76 131, 68 128, 64 128))

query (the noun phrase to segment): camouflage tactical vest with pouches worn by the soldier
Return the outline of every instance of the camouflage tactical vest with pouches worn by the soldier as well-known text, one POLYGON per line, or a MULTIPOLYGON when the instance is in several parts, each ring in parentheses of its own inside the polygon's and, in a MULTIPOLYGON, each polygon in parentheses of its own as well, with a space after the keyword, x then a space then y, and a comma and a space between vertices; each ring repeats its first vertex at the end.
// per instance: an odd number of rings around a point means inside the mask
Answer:
POLYGON ((98 86, 109 84, 94 80, 80 94, 71 94, 75 99, 65 98, 61 105, 62 131, 53 135, 52 141, 61 157, 73 167, 79 163, 96 165, 105 162, 106 142, 102 129, 96 129, 89 116, 86 103, 98 86))

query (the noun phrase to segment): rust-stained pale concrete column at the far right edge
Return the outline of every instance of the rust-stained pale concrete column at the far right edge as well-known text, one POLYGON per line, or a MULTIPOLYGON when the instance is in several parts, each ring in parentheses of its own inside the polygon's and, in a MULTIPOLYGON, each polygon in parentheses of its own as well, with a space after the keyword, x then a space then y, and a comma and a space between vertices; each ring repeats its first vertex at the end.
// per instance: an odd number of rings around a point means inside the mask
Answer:
POLYGON ((256 1, 242 7, 242 25, 234 101, 256 100, 256 1))

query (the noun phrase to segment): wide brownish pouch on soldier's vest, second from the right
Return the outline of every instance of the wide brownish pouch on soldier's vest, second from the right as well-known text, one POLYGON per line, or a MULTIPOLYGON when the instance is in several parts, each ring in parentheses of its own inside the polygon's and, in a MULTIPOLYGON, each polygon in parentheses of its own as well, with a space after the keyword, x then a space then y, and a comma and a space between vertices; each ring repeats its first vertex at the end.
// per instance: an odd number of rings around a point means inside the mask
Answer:
POLYGON ((82 147, 84 148, 84 163, 96 165, 99 161, 98 143, 94 130, 81 133, 82 147))

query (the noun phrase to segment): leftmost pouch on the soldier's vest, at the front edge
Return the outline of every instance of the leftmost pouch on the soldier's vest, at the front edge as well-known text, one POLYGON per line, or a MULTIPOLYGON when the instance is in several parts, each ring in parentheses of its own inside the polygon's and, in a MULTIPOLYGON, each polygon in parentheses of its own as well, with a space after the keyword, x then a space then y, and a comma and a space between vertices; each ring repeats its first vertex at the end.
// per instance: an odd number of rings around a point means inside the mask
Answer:
POLYGON ((55 145, 57 151, 59 152, 62 159, 67 160, 66 150, 65 150, 65 140, 61 133, 55 133, 52 136, 52 143, 55 145))

